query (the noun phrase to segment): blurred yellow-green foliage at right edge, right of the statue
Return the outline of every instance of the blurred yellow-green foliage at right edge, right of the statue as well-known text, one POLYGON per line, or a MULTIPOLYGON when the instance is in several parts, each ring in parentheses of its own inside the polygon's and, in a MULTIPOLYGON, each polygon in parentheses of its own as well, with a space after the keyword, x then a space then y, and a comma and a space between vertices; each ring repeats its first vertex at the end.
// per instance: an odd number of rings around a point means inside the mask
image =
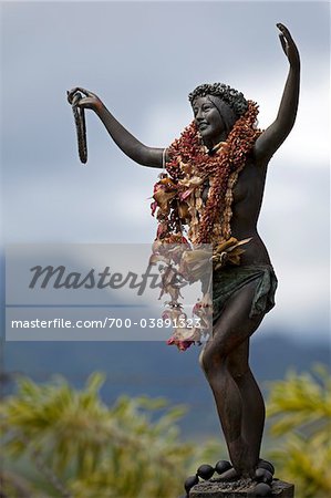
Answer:
POLYGON ((272 452, 282 479, 296 484, 300 498, 331 496, 331 377, 318 365, 314 375, 290 373, 271 384, 271 434, 282 439, 272 452))

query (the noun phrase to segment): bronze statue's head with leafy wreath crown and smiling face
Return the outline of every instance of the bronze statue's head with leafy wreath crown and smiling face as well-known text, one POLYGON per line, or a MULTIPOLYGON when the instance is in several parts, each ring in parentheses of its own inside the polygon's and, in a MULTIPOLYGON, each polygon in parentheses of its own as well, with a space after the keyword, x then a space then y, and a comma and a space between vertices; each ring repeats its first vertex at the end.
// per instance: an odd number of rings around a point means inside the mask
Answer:
POLYGON ((205 145, 225 141, 248 103, 242 93, 221 83, 203 84, 189 95, 195 121, 205 145))

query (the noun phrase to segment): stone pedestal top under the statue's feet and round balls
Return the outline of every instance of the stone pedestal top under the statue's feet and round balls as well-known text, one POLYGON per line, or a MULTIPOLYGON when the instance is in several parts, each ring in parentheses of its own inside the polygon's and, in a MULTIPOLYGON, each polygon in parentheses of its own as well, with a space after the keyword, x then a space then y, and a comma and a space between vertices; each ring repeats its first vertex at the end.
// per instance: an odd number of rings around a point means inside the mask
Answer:
MULTIPOLYGON (((254 498, 256 483, 251 479, 239 479, 236 481, 221 481, 210 479, 194 486, 189 491, 189 498, 254 498)), ((279 479, 271 484, 270 498, 294 498, 294 486, 279 479)), ((267 497, 267 498, 268 498, 267 497)))

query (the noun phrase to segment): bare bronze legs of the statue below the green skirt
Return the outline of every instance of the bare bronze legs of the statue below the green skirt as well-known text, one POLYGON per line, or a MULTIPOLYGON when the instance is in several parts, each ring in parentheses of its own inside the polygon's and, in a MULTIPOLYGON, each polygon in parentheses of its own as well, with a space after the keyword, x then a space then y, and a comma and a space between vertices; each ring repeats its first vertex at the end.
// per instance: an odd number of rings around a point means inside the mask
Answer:
MULTIPOLYGON (((238 290, 227 302, 207 342, 200 364, 214 393, 219 419, 234 468, 239 475, 251 475, 259 456, 263 426, 263 407, 248 367, 248 340, 259 326, 263 314, 249 318, 256 282, 238 290), (241 378, 240 378, 241 377, 241 378), (244 381, 245 377, 245 381, 244 381), (247 388, 254 385, 254 393, 247 388), (258 416, 249 413, 258 400, 258 416), (248 421, 244 417, 248 416, 248 421), (254 430, 255 436, 249 436, 254 430)), ((255 412, 256 413, 256 412, 255 412)))

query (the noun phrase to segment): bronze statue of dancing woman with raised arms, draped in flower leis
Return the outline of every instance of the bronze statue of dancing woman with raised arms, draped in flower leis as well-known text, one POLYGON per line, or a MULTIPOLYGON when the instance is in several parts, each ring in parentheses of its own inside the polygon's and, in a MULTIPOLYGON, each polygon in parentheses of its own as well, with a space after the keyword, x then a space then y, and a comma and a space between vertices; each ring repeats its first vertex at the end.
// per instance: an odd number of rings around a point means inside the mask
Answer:
MULTIPOLYGON (((200 354, 232 464, 232 468, 224 474, 225 478, 256 475, 265 424, 263 400, 248 363, 249 338, 273 305, 277 279, 257 231, 257 220, 269 160, 296 121, 300 80, 298 49, 289 30, 283 24, 277 27, 290 68, 278 115, 263 132, 256 128, 255 103, 219 83, 200 85, 189 95, 194 123, 166 149, 147 147, 138 142, 92 92, 81 87, 69 92, 69 102, 75 98, 81 110, 94 111, 116 145, 133 160, 156 168, 162 168, 165 163, 173 178, 170 188, 178 190, 182 181, 179 190, 183 194, 186 179, 192 180, 197 174, 195 191, 201 201, 183 204, 184 210, 176 211, 177 218, 173 216, 172 219, 167 216, 169 206, 161 209, 161 239, 167 240, 168 234, 175 239, 182 235, 177 222, 180 219, 189 226, 190 239, 198 243, 215 243, 217 237, 221 241, 230 237, 236 241, 250 239, 245 245, 239 266, 225 266, 214 274, 214 331, 200 354), (84 95, 81 98, 77 97, 80 92, 84 95), (193 152, 184 149, 185 139, 193 152)), ((192 193, 194 188, 189 181, 186 185, 192 193)), ((179 195, 180 203, 184 197, 179 195)), ((157 196, 155 198, 157 201, 157 196)))

